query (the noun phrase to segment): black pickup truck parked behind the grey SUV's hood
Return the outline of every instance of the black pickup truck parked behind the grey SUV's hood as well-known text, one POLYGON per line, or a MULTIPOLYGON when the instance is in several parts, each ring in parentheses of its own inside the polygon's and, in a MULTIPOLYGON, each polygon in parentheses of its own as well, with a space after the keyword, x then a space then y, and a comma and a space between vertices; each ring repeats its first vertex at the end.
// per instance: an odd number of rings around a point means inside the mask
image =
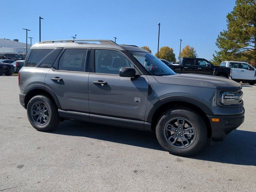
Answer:
POLYGON ((232 76, 232 70, 229 67, 215 66, 208 60, 202 58, 188 58, 180 59, 179 65, 169 66, 176 73, 196 73, 204 75, 215 75, 229 78, 232 76))

